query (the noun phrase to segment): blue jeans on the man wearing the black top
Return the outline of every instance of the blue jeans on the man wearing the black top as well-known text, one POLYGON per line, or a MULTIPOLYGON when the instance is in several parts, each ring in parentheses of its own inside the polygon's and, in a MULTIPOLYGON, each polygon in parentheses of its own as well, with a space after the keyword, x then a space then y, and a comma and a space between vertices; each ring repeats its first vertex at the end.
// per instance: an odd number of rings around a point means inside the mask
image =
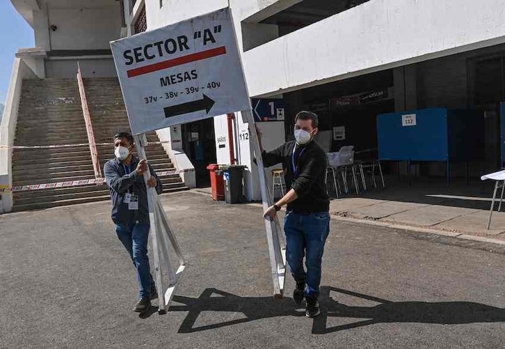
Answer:
POLYGON ((330 214, 317 212, 301 214, 287 212, 284 218, 286 233, 286 259, 297 283, 306 283, 305 295, 319 296, 321 260, 324 244, 330 233, 330 214), (303 257, 307 272, 303 268, 303 257))

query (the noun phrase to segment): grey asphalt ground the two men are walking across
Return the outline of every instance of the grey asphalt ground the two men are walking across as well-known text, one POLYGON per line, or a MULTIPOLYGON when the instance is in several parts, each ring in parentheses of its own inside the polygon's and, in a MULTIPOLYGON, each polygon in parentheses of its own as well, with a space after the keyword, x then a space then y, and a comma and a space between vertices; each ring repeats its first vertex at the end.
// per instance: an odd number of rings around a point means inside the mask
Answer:
POLYGON ((312 320, 272 297, 261 208, 162 202, 189 267, 161 316, 109 203, 0 215, 0 348, 505 347, 504 247, 332 220, 312 320))

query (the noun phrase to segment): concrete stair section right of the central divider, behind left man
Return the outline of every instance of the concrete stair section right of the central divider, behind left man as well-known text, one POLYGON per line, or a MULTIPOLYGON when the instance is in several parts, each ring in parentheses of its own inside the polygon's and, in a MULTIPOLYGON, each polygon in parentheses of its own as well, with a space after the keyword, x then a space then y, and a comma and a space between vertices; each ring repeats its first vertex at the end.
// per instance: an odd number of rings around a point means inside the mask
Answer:
MULTIPOLYGON (((107 146, 97 146, 100 166, 104 168, 106 161, 114 158, 113 137, 118 132, 129 132, 128 116, 125 103, 122 99, 121 88, 117 78, 95 77, 84 79, 86 98, 90 109, 95 141, 97 143, 110 143, 107 146)), ((147 134, 147 141, 157 142, 156 132, 147 134)), ((153 144, 145 150, 147 160, 154 171, 175 170, 170 157, 166 155, 161 144, 153 144)), ((163 183, 163 192, 178 192, 189 189, 182 182, 179 174, 159 176, 163 183)))

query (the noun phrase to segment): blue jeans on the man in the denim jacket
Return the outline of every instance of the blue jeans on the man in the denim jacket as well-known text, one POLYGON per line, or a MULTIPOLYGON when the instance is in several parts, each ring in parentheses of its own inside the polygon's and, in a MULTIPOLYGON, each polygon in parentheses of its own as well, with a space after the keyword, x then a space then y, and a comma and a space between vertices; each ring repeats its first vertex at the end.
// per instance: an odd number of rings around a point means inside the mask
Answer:
POLYGON ((147 257, 147 241, 149 240, 149 224, 136 223, 131 225, 115 224, 115 233, 118 235, 122 245, 127 249, 131 261, 137 270, 138 285, 141 290, 138 297, 150 298, 152 280, 149 257, 147 257))

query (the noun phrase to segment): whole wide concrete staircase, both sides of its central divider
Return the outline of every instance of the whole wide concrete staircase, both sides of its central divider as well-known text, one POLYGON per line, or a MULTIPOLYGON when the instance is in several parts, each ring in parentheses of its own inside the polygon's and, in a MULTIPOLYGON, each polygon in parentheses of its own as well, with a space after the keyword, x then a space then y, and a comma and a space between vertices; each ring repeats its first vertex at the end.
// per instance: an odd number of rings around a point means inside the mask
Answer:
MULTIPOLYGON (((87 98, 97 143, 112 143, 115 132, 129 130, 118 79, 86 79, 87 98)), ((150 141, 158 141, 153 132, 150 141)), ((15 146, 88 144, 77 79, 26 79, 15 146)), ((104 162, 113 157, 113 146, 100 146, 104 162)), ((173 169, 161 145, 150 146, 147 158, 156 171, 173 169)), ((13 185, 34 185, 95 178, 89 146, 15 149, 13 185)), ((188 189, 179 175, 163 176, 163 192, 188 189)), ((51 208, 75 203, 109 200, 106 185, 14 192, 13 211, 51 208)))

